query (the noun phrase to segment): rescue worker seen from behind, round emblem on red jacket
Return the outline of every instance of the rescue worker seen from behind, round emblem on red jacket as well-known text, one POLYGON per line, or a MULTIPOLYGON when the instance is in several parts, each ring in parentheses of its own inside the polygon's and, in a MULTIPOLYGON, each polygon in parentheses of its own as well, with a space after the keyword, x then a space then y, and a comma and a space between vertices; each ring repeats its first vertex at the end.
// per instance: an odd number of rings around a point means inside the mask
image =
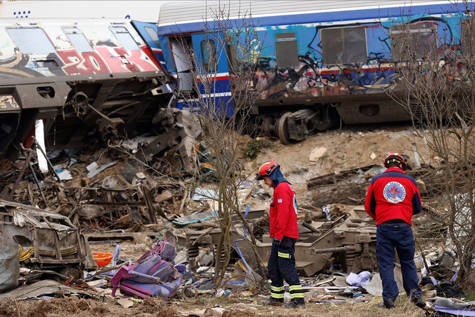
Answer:
POLYGON ((414 178, 407 175, 406 160, 391 153, 384 160, 386 171, 372 178, 364 209, 376 220, 377 257, 383 281, 383 302, 393 308, 399 290, 394 280, 394 248, 401 264, 402 284, 408 297, 419 306, 422 296, 414 263, 412 216, 421 212, 421 195, 414 178))

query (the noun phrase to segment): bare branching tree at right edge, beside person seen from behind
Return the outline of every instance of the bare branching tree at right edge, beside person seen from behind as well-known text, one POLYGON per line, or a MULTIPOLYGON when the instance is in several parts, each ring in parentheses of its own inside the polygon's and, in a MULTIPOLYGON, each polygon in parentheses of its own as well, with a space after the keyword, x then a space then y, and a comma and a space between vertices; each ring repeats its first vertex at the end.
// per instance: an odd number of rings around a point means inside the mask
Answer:
POLYGON ((448 227, 457 282, 466 290, 475 257, 475 15, 471 3, 463 3, 465 12, 437 18, 427 12, 413 19, 406 8, 409 16, 389 17, 386 30, 394 69, 388 93, 408 110, 417 134, 442 161, 426 186, 444 197, 438 221, 448 227))

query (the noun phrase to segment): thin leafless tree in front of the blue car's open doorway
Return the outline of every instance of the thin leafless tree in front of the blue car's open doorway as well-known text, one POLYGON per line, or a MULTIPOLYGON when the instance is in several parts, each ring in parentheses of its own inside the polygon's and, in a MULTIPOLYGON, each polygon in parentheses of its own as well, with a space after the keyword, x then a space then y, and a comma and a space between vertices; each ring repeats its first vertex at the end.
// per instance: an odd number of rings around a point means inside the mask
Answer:
MULTIPOLYGON (((249 10, 231 17, 228 6, 223 3, 217 9, 207 8, 207 12, 212 16, 203 18, 199 48, 194 47, 195 43, 185 34, 176 34, 173 40, 174 57, 181 64, 175 97, 184 108, 192 110, 201 126, 201 145, 206 150, 198 156, 201 156, 201 167, 207 168, 208 172, 201 174, 201 179, 196 174, 197 183, 203 181, 204 175, 217 192, 209 198, 216 202, 216 221, 221 229, 215 262, 215 283, 218 283, 224 278, 229 264, 234 243, 232 236, 238 232, 233 219, 239 219, 241 226, 249 228, 243 216, 245 206, 238 193, 243 175, 236 161, 243 147, 239 137, 245 126, 243 122, 249 118, 249 110, 259 93, 250 83, 262 41, 258 39, 249 10), (228 74, 220 73, 219 69, 226 67, 228 74), (221 255, 222 263, 218 260, 221 255)), ((256 240, 252 230, 248 232, 260 274, 264 275, 255 249, 256 240)))

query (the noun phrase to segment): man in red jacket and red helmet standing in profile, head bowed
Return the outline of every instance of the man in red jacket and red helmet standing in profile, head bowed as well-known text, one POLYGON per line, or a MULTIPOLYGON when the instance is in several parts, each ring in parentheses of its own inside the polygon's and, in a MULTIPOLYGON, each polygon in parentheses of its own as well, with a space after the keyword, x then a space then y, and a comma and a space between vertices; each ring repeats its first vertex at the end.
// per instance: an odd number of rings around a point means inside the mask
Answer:
POLYGON ((270 237, 273 238, 267 270, 270 280, 270 298, 262 305, 276 305, 284 302, 284 280, 289 285, 290 302, 286 308, 304 307, 303 289, 295 268, 295 242, 297 229, 297 196, 292 185, 284 178, 279 164, 268 161, 256 173, 258 181, 274 189, 270 201, 270 237))

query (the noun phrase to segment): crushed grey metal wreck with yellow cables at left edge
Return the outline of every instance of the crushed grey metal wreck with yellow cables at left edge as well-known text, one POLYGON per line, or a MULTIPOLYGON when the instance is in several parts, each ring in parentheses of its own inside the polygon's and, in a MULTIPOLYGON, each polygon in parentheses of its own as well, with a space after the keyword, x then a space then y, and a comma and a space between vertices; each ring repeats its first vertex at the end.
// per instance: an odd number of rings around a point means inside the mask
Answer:
POLYGON ((84 268, 96 268, 89 244, 67 217, 0 200, 0 229, 4 245, 33 248, 24 264, 80 263, 84 268))

